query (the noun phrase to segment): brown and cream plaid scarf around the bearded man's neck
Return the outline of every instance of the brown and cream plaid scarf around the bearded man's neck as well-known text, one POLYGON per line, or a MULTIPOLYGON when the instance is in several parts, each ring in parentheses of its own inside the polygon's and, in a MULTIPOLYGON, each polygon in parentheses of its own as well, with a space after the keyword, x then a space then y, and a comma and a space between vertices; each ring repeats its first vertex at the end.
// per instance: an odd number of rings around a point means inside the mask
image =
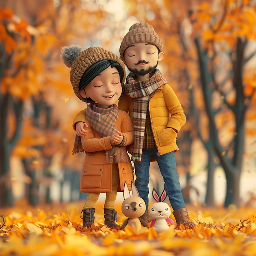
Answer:
POLYGON ((134 162, 141 162, 149 95, 167 83, 158 69, 150 75, 149 79, 137 82, 137 75, 130 72, 124 85, 124 93, 133 98, 134 141, 131 159, 134 162))

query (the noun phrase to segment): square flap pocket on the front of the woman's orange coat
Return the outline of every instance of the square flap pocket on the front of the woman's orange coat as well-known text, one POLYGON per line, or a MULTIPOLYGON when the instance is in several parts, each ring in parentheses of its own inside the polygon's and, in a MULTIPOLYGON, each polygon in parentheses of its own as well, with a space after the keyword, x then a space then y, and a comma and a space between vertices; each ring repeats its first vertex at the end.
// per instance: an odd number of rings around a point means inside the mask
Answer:
POLYGON ((81 188, 92 189, 101 187, 104 165, 83 166, 81 188))

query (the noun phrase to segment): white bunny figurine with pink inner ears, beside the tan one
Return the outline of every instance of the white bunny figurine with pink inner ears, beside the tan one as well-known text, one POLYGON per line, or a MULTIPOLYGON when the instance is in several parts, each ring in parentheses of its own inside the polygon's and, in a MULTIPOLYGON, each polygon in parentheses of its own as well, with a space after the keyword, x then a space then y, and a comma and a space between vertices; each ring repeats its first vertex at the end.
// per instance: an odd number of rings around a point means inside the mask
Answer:
POLYGON ((168 230, 170 225, 174 224, 174 221, 170 219, 171 208, 166 204, 164 199, 166 198, 166 190, 164 189, 161 197, 157 194, 157 191, 153 189, 153 198, 157 201, 152 205, 149 216, 153 219, 150 223, 150 227, 155 227, 155 231, 160 233, 164 230, 168 230))

